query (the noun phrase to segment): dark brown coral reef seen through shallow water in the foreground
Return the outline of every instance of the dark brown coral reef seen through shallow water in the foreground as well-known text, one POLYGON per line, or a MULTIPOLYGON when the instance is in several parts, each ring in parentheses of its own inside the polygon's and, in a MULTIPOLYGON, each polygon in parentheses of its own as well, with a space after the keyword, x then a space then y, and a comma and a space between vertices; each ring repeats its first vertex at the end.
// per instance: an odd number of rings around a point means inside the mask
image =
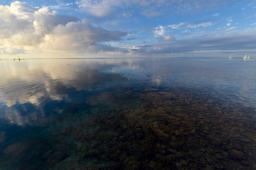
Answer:
POLYGON ((256 169, 255 110, 214 92, 125 85, 83 105, 0 132, 0 169, 256 169))

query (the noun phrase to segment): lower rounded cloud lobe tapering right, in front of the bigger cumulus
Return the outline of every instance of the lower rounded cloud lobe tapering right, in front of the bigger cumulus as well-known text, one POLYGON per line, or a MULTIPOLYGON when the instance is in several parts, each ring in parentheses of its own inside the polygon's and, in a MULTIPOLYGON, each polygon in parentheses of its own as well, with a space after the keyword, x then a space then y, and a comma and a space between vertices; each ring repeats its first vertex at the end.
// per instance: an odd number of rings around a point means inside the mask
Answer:
MULTIPOLYGON (((76 50, 79 52, 107 51, 108 46, 100 43, 105 41, 117 41, 125 36, 122 31, 107 31, 100 27, 94 27, 81 20, 68 22, 66 25, 58 25, 46 35, 45 41, 40 45, 43 49, 52 50, 76 50)), ((111 47, 109 46, 109 50, 111 47)))

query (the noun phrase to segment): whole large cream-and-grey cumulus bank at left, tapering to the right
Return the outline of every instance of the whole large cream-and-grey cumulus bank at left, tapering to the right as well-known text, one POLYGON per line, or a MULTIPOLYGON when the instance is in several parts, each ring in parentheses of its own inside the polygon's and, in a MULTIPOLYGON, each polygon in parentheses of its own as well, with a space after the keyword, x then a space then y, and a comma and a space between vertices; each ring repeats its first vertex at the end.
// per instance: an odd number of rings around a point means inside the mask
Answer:
POLYGON ((87 20, 59 15, 48 8, 32 8, 14 1, 0 5, 0 54, 29 50, 111 51, 107 41, 119 41, 124 31, 94 27, 87 20))

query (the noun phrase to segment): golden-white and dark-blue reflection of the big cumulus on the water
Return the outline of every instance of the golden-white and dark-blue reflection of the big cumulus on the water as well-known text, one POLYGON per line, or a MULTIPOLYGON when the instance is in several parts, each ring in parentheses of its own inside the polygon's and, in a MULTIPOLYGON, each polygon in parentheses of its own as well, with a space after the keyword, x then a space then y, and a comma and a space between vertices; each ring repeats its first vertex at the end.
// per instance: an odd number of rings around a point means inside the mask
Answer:
POLYGON ((3 61, 0 76, 4 80, 0 84, 3 107, 0 107, 0 118, 12 124, 24 125, 47 117, 48 112, 61 113, 68 103, 86 99, 93 90, 126 82, 127 78, 111 71, 115 65, 129 65, 129 61, 120 62, 3 61), (48 105, 54 106, 49 109, 48 105))

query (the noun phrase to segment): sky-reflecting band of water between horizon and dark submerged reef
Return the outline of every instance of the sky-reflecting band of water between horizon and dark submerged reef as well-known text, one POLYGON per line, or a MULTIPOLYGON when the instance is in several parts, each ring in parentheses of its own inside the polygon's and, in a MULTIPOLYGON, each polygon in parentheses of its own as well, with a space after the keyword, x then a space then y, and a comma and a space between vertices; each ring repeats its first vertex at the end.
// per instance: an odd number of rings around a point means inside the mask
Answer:
POLYGON ((94 92, 145 82, 188 88, 254 107, 254 63, 219 59, 57 59, 0 62, 0 118, 12 124, 84 107, 94 92), (248 81, 250 80, 250 81, 248 81), (70 108, 70 105, 75 105, 70 108))

